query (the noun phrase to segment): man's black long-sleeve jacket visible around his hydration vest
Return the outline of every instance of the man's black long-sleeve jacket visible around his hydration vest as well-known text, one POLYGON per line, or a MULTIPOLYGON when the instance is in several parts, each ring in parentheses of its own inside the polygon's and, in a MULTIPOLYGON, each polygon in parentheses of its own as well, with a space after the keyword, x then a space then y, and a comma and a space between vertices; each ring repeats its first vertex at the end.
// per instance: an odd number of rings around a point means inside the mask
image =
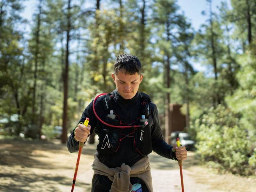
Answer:
MULTIPOLYGON (((118 106, 117 108, 115 108, 115 112, 116 114, 118 114, 123 124, 131 124, 131 122, 134 122, 141 115, 139 114, 141 98, 138 92, 132 99, 129 100, 125 100, 124 98, 122 98, 117 90, 114 90, 113 92, 111 92, 111 94, 115 97, 115 101, 118 106)), ((105 109, 102 107, 103 98, 104 97, 99 97, 95 102, 95 109, 97 109, 96 113, 100 118, 103 118, 103 116, 105 116, 105 109)), ((91 134, 93 130, 96 134, 99 134, 100 128, 99 126, 96 126, 97 123, 99 124, 99 120, 94 115, 92 104, 93 101, 85 108, 79 123, 84 122, 85 118, 88 117, 90 119, 89 124, 91 125, 91 134)), ((151 109, 150 116, 152 118, 148 118, 148 121, 153 121, 148 122, 151 125, 150 129, 152 150, 160 156, 177 160, 175 152, 172 152, 172 146, 168 145, 163 140, 163 134, 159 125, 158 110, 156 105, 152 102, 149 102, 149 106, 151 109)), ((122 147, 118 149, 117 152, 107 155, 99 153, 98 158, 102 163, 112 168, 121 166, 122 163, 132 166, 142 158, 142 156, 132 148, 132 142, 133 141, 131 138, 125 138, 122 142, 122 147)), ((74 131, 68 138, 67 146, 69 152, 71 153, 78 151, 78 142, 74 139, 74 131)))

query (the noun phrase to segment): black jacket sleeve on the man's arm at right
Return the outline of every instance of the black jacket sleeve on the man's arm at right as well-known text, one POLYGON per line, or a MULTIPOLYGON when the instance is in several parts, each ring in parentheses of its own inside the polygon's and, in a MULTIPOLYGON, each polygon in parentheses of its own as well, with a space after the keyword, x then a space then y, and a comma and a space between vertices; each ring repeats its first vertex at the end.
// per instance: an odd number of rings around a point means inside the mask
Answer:
POLYGON ((152 149, 158 155, 166 157, 168 159, 177 160, 175 151, 172 151, 172 146, 168 145, 163 139, 163 133, 160 128, 159 119, 158 119, 158 110, 154 103, 150 103, 151 115, 153 117, 153 124, 151 127, 151 140, 152 140, 152 149))

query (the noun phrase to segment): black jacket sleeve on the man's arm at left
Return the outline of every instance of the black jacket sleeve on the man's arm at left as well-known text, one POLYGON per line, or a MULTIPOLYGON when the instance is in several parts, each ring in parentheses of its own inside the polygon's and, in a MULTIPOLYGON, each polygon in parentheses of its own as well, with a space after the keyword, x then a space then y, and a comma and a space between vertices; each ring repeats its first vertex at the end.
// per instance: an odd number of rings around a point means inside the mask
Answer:
MULTIPOLYGON (((89 125, 91 125, 90 135, 92 134, 92 132, 93 132, 95 126, 96 126, 96 116, 95 116, 94 113, 93 113, 92 104, 93 104, 93 100, 92 100, 92 102, 84 109, 84 112, 83 112, 83 114, 82 114, 82 116, 81 116, 81 118, 80 118, 80 120, 79 120, 79 122, 78 122, 78 124, 79 124, 80 122, 84 123, 86 117, 88 117, 88 118, 90 119, 90 121, 89 121, 89 125)), ((77 124, 77 125, 78 125, 78 124, 77 124)), ((76 126, 77 126, 77 125, 76 125, 76 126)), ((75 127, 75 129, 76 129, 76 127, 75 127)), ((67 147, 68 147, 68 151, 69 151, 70 153, 74 153, 74 152, 76 152, 76 151, 79 150, 79 149, 78 149, 78 144, 79 144, 79 142, 76 141, 75 138, 74 138, 74 136, 75 136, 75 135, 74 135, 75 129, 73 130, 73 132, 71 133, 71 135, 68 137, 67 147)), ((85 141, 85 142, 86 142, 86 141, 85 141)), ((85 142, 84 142, 84 143, 85 143, 85 142)))

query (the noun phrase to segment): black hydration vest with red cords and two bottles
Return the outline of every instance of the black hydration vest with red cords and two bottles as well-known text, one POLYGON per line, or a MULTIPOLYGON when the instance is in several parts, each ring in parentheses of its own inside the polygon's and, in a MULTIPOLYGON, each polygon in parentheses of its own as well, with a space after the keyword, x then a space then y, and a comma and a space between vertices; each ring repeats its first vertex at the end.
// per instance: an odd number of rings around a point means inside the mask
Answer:
MULTIPOLYGON (((102 105, 105 109, 105 115, 102 119, 108 124, 116 125, 116 126, 124 126, 122 124, 122 119, 119 118, 118 114, 115 112, 115 98, 110 93, 103 96, 104 99, 102 100, 102 105), (113 110, 114 114, 116 115, 115 119, 112 119, 108 117, 108 114, 110 114, 110 111, 113 110)), ((143 93, 139 93, 140 97, 140 115, 137 117, 136 121, 131 124, 125 124, 125 125, 143 125, 144 123, 140 122, 141 116, 145 115, 145 118, 148 119, 148 124, 146 126, 141 127, 132 127, 132 128, 116 128, 111 127, 108 125, 105 125, 103 123, 99 123, 99 144, 97 145, 97 151, 101 154, 109 154, 109 153, 115 153, 117 150, 121 150, 122 148, 122 140, 124 139, 132 139, 132 146, 133 149, 138 152, 142 156, 147 156, 149 153, 152 152, 152 143, 151 143, 151 130, 150 130, 150 124, 149 118, 152 118, 150 116, 150 97, 143 93), (124 129, 129 129, 124 130, 124 129), (125 133, 124 133, 125 132, 125 133), (128 132, 128 133, 127 133, 128 132)), ((97 112, 97 110, 96 110, 97 112)), ((150 120, 152 122, 152 120, 150 120)))

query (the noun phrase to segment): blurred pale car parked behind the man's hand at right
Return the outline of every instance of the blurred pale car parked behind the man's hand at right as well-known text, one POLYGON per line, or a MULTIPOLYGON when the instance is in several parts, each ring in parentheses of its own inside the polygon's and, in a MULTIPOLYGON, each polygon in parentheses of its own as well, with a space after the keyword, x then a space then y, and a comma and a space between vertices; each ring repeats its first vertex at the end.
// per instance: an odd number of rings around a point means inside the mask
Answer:
POLYGON ((171 133, 171 144, 172 146, 176 144, 176 139, 180 139, 180 144, 185 146, 188 151, 194 151, 195 148, 195 141, 191 139, 190 135, 185 132, 172 132, 171 133))

